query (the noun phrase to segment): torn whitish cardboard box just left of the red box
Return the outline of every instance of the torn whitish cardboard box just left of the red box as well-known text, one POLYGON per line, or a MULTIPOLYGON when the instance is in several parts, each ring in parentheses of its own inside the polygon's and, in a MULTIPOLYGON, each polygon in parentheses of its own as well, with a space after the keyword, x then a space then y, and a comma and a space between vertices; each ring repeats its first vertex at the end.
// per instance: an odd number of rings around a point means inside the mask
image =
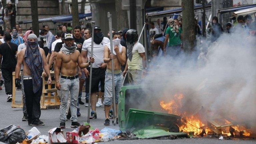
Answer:
POLYGON ((50 144, 66 143, 67 142, 61 128, 53 128, 53 129, 49 130, 48 134, 49 134, 49 143, 50 144))

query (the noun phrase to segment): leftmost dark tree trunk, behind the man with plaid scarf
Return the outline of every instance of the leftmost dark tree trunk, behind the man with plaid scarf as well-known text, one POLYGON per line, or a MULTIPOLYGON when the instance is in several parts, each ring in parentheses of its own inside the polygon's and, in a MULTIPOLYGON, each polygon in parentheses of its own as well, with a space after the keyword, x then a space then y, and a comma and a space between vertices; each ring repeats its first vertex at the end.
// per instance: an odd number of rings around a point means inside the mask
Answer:
POLYGON ((34 34, 36 36, 39 36, 37 0, 30 0, 30 4, 31 4, 32 29, 34 31, 34 34))

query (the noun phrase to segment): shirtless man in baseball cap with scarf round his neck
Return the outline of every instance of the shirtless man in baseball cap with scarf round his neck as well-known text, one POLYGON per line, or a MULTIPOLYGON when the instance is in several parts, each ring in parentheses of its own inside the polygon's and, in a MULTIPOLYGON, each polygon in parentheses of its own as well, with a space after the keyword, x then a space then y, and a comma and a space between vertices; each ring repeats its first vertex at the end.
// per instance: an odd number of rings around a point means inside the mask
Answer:
POLYGON ((54 69, 56 88, 60 90, 61 104, 60 104, 60 128, 65 128, 66 122, 66 109, 68 102, 68 94, 70 92, 70 109, 72 121, 71 127, 79 127, 80 123, 77 122, 77 98, 79 93, 79 79, 77 74, 77 64, 80 68, 86 68, 90 63, 94 62, 94 58, 90 59, 88 63, 82 63, 81 55, 76 50, 74 45, 74 38, 72 34, 66 34, 64 44, 56 57, 56 66, 54 69), (61 68, 61 75, 59 73, 61 68))

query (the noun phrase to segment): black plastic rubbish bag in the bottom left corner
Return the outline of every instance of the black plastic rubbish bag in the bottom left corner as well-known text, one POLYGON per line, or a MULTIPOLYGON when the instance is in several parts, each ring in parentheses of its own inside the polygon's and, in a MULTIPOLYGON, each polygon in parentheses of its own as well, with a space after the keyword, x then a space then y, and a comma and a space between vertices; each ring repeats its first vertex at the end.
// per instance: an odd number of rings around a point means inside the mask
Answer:
POLYGON ((0 141, 7 144, 22 142, 26 138, 25 131, 15 125, 0 130, 0 141))

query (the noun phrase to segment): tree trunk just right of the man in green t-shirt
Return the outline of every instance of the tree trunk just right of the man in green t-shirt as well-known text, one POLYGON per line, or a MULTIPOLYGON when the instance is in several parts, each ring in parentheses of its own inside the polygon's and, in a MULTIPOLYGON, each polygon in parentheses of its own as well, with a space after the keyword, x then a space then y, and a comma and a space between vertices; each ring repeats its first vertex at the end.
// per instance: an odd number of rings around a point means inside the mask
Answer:
POLYGON ((194 0, 182 0, 182 44, 184 51, 190 53, 195 47, 194 0))

